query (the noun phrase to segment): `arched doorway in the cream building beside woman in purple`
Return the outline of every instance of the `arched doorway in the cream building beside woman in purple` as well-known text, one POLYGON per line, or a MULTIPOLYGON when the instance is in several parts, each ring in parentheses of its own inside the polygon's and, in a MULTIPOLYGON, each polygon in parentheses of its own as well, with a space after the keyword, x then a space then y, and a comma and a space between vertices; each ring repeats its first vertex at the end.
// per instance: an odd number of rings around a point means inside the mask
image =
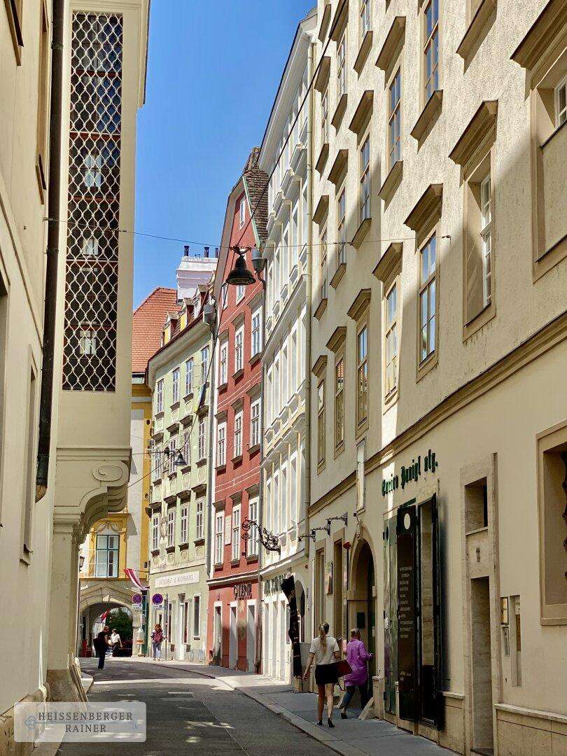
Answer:
POLYGON ((349 631, 352 627, 358 627, 364 645, 373 655, 368 663, 371 680, 376 674, 376 559, 370 539, 365 536, 365 533, 361 534, 352 551, 349 631))

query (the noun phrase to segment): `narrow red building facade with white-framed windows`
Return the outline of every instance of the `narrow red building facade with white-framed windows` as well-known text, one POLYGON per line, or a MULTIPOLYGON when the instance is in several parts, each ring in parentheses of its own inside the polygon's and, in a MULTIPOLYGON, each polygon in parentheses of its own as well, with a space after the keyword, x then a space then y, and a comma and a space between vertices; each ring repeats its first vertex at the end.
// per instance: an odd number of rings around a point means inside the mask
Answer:
POLYGON ((228 197, 215 283, 219 327, 207 627, 209 660, 246 671, 259 671, 261 647, 259 543, 256 528, 245 540, 241 525, 260 516, 262 283, 234 287, 224 282, 234 266, 230 247, 248 248, 246 265, 252 270, 249 249, 265 239, 267 176, 256 167, 257 159, 255 148, 228 197))

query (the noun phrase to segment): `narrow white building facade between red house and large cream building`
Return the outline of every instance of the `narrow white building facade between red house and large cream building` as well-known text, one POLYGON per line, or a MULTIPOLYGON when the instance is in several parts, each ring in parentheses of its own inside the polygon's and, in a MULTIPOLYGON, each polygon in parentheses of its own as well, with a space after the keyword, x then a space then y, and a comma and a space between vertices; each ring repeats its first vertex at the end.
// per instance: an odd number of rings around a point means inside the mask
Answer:
POLYGON ((280 547, 280 552, 262 550, 262 669, 277 680, 290 680, 291 675, 289 609, 280 590, 281 580, 290 574, 296 584, 300 633, 305 627, 309 541, 300 536, 307 527, 308 496, 310 376, 305 357, 310 319, 312 173, 312 90, 308 84, 313 76, 315 23, 315 9, 299 23, 259 157, 260 168, 268 175, 273 172, 268 186, 268 240, 263 251, 268 262, 262 350, 262 524, 279 536, 280 547), (288 134, 290 139, 280 156, 288 134))

